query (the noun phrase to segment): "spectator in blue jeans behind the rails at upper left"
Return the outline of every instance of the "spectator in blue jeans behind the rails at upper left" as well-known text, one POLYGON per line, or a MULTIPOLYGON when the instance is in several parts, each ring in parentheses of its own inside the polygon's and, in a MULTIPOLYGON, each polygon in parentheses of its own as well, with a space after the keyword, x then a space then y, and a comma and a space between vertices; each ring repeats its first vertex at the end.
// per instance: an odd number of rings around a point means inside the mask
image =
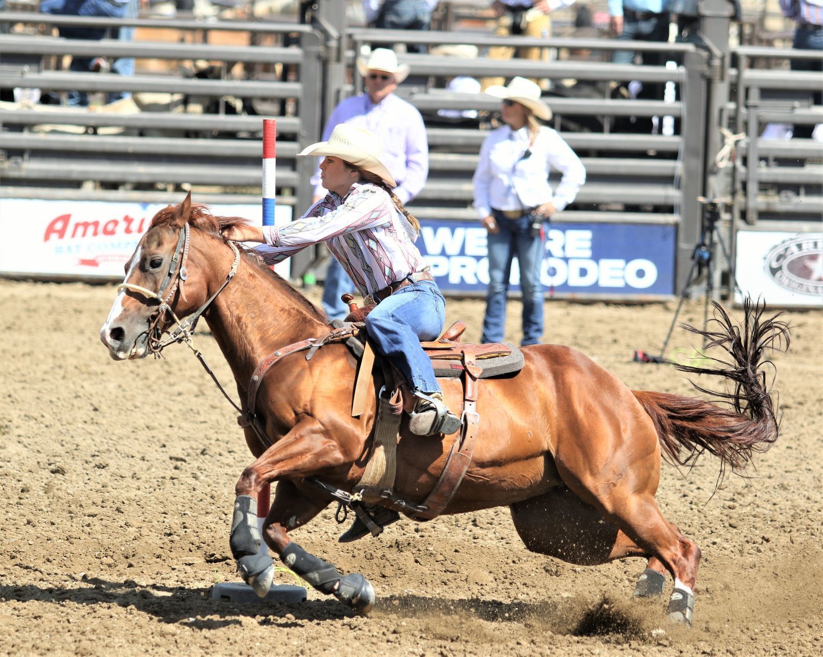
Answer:
MULTIPOLYGON (((40 12, 56 16, 108 16, 109 18, 123 18, 128 12, 129 0, 42 0, 40 12)), ((67 39, 88 39, 99 41, 109 32, 105 27, 62 26, 60 36, 67 39)), ((72 57, 69 69, 77 72, 99 71, 108 68, 102 58, 72 57)), ((89 104, 86 91, 69 91, 69 105, 85 106, 89 104)))

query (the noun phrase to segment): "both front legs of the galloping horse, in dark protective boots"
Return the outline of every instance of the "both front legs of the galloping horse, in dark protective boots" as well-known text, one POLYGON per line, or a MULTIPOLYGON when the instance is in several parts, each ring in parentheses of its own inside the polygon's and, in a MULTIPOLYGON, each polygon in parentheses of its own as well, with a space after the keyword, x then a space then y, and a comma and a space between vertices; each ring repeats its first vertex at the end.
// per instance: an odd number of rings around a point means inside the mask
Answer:
MULTIPOLYGON (((356 450, 357 446, 352 445, 352 449, 356 450)), ((274 575, 271 557, 258 553, 256 493, 260 487, 275 479, 310 477, 355 459, 356 455, 344 453, 341 442, 325 436, 319 422, 307 419, 244 470, 235 487, 237 497, 229 544, 240 575, 258 595, 267 594, 274 575)), ((314 518, 328 501, 323 501, 322 506, 319 504, 314 496, 301 493, 294 483, 278 483, 272 509, 263 524, 266 543, 286 566, 315 589, 333 594, 361 613, 368 613, 374 606, 374 589, 363 575, 341 575, 332 564, 305 552, 286 534, 286 529, 294 529, 314 518)))

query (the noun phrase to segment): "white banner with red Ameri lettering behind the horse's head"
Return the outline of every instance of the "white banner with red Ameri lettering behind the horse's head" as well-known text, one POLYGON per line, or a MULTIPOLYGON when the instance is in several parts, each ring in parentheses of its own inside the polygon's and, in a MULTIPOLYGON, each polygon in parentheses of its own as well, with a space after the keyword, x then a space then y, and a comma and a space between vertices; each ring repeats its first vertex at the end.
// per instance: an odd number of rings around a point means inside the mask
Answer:
MULTIPOLYGON (((0 198, 0 273, 35 277, 123 278, 151 218, 165 203, 41 201, 0 198)), ((257 205, 214 205, 213 214, 263 224, 257 205)), ((291 221, 291 207, 277 206, 278 226, 291 221)), ((289 261, 275 271, 288 278, 289 261)))

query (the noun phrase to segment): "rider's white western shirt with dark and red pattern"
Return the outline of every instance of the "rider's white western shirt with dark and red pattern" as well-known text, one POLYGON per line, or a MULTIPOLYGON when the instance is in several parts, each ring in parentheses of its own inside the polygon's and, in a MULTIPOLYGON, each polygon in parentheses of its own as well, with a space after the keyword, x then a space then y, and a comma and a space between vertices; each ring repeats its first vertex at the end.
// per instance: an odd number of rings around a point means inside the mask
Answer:
POLYGON ((352 185, 344 198, 329 192, 297 221, 264 226, 263 236, 255 251, 267 264, 325 242, 363 296, 425 268, 391 197, 371 183, 352 185))

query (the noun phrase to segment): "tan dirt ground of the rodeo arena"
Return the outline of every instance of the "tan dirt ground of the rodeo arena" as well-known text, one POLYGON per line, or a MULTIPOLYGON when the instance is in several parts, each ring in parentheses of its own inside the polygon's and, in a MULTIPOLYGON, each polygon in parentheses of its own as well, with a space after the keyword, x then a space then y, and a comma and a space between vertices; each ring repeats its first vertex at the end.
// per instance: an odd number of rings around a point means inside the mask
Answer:
MULTIPOLYGON (((315 294, 316 298, 316 294, 315 294)), ((703 549, 695 627, 628 602, 643 561, 570 566, 527 552, 505 508, 402 521, 341 545, 330 508, 295 538, 373 583, 357 617, 307 603, 211 599, 235 580, 228 532, 251 459, 235 412, 184 347, 114 362, 98 331, 113 286, 0 280, 0 653, 133 655, 821 655, 823 315, 792 312, 777 354, 783 435, 753 478, 712 495, 718 462, 666 467, 658 501, 703 549)), ((672 305, 546 305, 546 340, 638 389, 690 394, 656 352, 672 305)), ((700 303, 681 319, 700 324, 700 303)), ((452 301, 477 339, 479 301, 452 301)), ((509 335, 518 339, 518 305, 509 335)), ((198 347, 228 367, 204 328, 198 347)), ((677 331, 672 347, 689 347, 677 331)), ((230 386, 228 386, 230 387, 230 386)), ((281 583, 294 583, 278 573, 281 583)))

